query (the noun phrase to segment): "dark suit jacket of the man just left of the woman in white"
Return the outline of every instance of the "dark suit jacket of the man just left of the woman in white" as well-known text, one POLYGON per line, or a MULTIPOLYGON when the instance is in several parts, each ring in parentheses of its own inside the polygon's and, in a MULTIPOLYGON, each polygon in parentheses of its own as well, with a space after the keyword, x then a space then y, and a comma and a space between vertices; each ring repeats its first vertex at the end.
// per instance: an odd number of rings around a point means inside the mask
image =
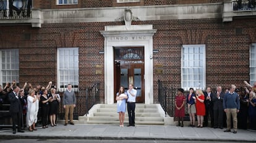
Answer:
POLYGON ((21 113, 22 112, 22 105, 20 103, 20 97, 19 99, 17 99, 15 97, 15 94, 14 92, 10 92, 8 94, 8 97, 9 97, 9 101, 10 101, 10 113, 21 113))

